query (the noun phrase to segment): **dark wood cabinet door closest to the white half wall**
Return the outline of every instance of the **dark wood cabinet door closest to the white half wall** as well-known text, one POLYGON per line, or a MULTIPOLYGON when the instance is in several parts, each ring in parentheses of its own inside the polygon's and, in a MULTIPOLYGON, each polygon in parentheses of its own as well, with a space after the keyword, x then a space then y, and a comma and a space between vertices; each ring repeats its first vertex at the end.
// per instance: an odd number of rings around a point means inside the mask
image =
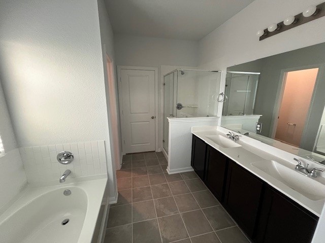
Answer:
POLYGON ((202 180, 204 180, 205 175, 206 149, 207 144, 197 136, 193 135, 191 166, 202 180))

